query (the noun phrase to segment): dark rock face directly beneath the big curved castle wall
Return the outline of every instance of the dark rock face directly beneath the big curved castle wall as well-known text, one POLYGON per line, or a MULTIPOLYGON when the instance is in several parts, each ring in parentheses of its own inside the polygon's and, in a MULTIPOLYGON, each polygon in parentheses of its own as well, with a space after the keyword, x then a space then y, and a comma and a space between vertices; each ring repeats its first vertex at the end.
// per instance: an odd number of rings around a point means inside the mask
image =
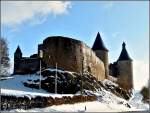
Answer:
MULTIPOLYGON (((55 92, 55 70, 45 70, 42 72, 44 79, 41 81, 41 88, 50 92, 55 92)), ((38 80, 28 80, 24 85, 31 88, 39 88, 38 80)), ((59 94, 75 94, 83 89, 96 91, 101 86, 97 79, 90 73, 80 75, 75 72, 57 71, 57 93, 59 94)))

